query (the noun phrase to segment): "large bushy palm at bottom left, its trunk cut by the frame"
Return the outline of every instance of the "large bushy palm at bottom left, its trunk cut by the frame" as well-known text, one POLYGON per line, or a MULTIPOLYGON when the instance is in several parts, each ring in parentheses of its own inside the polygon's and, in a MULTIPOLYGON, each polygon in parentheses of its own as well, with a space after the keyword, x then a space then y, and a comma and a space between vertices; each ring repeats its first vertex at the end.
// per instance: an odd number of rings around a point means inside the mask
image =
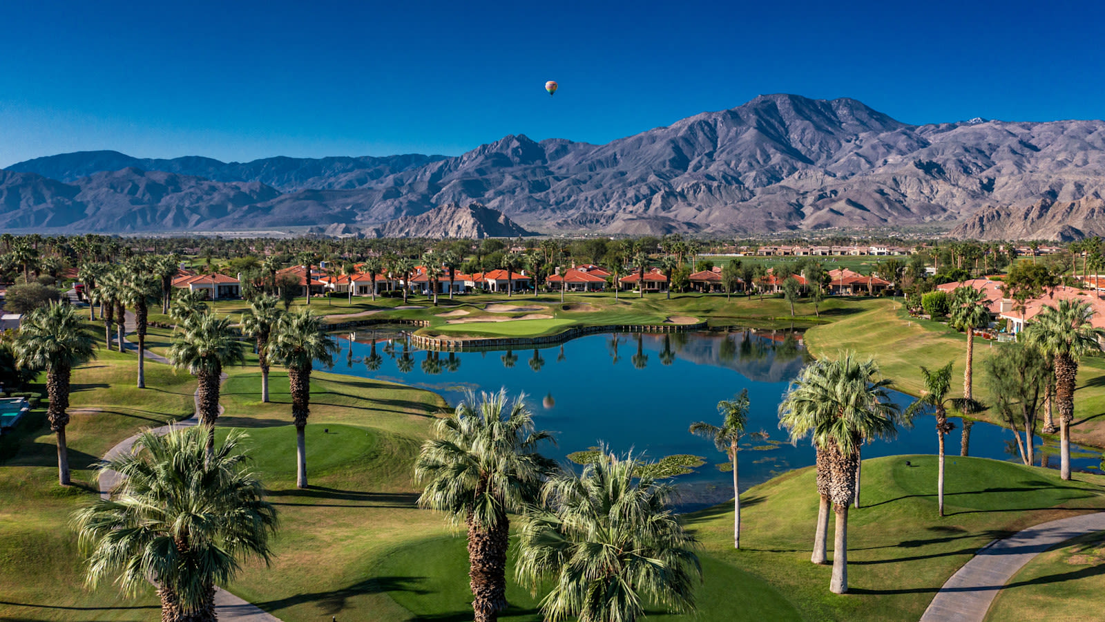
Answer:
POLYGON ((122 477, 110 499, 77 510, 77 539, 87 554, 87 582, 115 577, 130 594, 156 581, 161 620, 214 620, 214 588, 240 563, 271 559, 276 508, 246 468, 231 432, 209 452, 202 428, 145 432, 127 453, 99 468, 122 477))

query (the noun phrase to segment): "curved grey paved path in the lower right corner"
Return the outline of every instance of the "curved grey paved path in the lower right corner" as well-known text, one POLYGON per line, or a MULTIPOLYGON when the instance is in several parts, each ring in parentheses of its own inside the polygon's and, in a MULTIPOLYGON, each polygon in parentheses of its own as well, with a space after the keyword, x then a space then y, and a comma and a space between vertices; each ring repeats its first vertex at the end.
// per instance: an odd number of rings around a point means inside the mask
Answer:
POLYGON ((982 622, 1001 588, 1032 558, 1095 531, 1105 531, 1105 512, 1052 520, 990 542, 944 583, 920 622, 982 622))

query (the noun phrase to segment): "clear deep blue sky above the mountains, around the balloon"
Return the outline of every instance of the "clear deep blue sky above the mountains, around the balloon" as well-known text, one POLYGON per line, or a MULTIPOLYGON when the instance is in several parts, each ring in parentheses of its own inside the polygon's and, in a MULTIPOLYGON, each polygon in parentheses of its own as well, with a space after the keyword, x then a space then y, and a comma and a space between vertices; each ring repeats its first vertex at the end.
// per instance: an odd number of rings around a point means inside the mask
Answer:
POLYGON ((1105 117, 1101 2, 380 4, 7 3, 0 166, 604 143, 778 92, 908 123, 1105 117))

